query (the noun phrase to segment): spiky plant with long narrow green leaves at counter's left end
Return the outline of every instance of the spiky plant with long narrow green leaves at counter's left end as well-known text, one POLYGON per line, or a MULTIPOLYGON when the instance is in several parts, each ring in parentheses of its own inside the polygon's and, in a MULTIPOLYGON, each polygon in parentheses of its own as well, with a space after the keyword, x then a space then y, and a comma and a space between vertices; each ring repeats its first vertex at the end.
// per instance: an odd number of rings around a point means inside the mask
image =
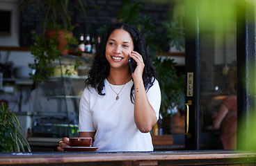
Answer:
POLYGON ((12 152, 12 151, 25 151, 24 142, 29 152, 31 147, 29 142, 19 133, 22 128, 19 125, 19 121, 15 116, 15 113, 10 112, 9 106, 6 103, 0 105, 0 151, 12 152))

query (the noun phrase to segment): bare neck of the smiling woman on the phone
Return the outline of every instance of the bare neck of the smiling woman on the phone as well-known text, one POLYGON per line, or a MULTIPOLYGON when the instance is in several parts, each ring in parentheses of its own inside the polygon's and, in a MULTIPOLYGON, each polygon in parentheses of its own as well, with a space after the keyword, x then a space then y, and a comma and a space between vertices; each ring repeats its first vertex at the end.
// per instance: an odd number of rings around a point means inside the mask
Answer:
POLYGON ((122 85, 131 80, 131 73, 129 73, 129 71, 110 71, 109 76, 106 79, 111 84, 122 85))

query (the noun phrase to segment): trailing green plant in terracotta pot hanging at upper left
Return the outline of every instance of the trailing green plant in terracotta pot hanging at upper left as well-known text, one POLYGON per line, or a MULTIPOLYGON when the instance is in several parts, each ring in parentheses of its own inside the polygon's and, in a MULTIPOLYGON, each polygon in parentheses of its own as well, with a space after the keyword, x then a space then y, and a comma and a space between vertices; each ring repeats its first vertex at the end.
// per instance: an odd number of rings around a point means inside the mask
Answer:
MULTIPOLYGON (((31 74, 35 82, 47 80, 47 77, 54 72, 52 62, 63 54, 67 55, 70 44, 77 44, 77 39, 72 37, 74 26, 72 26, 70 6, 75 6, 85 15, 87 8, 81 0, 77 0, 77 3, 74 1, 70 3, 68 0, 24 0, 20 5, 21 10, 32 6, 35 13, 33 17, 40 18, 42 24, 42 33, 33 37, 35 42, 29 49, 34 57, 33 64, 29 66, 37 72, 36 75, 31 74), (61 40, 64 44, 61 44, 61 40)), ((79 57, 77 57, 74 70, 77 70, 80 64, 79 57)), ((70 73, 67 71, 67 74, 70 73)))

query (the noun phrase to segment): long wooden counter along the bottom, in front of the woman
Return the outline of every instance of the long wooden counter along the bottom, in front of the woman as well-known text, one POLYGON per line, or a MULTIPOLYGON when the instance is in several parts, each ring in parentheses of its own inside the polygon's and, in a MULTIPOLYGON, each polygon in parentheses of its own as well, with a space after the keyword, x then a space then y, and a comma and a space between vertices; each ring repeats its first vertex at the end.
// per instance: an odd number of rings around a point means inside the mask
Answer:
POLYGON ((0 165, 256 165, 256 151, 0 153, 0 165))

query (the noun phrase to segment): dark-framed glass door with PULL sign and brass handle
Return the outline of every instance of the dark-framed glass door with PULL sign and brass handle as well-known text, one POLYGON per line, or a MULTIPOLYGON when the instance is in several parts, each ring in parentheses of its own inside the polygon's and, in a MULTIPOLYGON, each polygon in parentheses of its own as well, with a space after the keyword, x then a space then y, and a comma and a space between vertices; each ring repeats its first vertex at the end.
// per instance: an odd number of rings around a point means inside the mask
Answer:
POLYGON ((235 1, 187 0, 185 30, 185 148, 223 149, 213 121, 228 95, 227 71, 237 66, 235 1))

